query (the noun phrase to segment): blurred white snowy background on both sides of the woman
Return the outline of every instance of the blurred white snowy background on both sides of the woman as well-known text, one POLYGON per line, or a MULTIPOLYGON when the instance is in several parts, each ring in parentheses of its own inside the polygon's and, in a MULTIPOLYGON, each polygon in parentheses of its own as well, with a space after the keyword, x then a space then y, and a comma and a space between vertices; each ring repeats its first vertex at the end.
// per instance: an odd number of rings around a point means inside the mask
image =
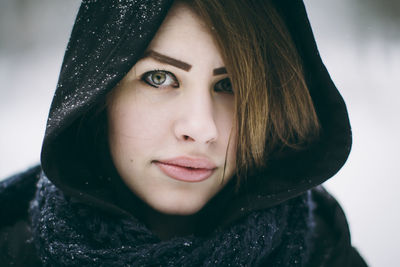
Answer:
MULTIPOLYGON (((370 266, 399 266, 400 1, 305 0, 354 145, 329 182, 370 266)), ((0 2, 0 179, 39 162, 78 0, 0 2)))

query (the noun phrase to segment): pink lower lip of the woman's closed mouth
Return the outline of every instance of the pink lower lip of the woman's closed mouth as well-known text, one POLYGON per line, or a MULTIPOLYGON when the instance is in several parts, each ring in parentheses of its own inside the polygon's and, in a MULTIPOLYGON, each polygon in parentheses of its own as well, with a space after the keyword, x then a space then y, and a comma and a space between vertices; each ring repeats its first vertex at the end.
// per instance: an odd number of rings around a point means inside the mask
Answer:
POLYGON ((178 165, 155 162, 160 170, 169 177, 184 182, 201 182, 210 177, 214 169, 194 169, 178 165))

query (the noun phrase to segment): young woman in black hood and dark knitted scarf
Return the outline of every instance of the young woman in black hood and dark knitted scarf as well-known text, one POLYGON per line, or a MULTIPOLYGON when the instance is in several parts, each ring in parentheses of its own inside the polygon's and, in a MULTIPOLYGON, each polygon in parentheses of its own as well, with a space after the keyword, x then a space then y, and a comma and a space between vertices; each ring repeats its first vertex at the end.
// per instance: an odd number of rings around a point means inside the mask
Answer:
POLYGON ((319 184, 351 131, 300 0, 83 1, 10 266, 365 266, 319 184))

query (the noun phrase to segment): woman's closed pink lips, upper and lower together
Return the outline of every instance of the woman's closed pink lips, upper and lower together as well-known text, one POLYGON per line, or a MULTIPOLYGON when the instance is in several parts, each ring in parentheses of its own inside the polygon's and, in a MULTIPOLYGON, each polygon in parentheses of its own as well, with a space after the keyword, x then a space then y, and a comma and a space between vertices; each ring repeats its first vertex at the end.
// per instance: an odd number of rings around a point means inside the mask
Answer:
POLYGON ((205 158, 178 157, 154 161, 167 176, 184 182, 200 182, 210 177, 215 164, 205 158))

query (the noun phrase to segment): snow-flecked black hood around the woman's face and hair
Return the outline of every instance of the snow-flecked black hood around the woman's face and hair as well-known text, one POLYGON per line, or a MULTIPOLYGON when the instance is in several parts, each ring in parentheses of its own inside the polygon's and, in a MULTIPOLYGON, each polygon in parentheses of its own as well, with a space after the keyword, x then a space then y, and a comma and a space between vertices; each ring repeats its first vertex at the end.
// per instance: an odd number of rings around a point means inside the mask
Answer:
MULTIPOLYGON (((67 195, 109 211, 124 212, 107 186, 86 167, 76 136, 80 121, 143 55, 172 5, 171 0, 82 2, 65 53, 42 147, 42 168, 67 195), (75 147, 75 148, 72 148, 75 147)), ((321 124, 318 142, 305 150, 272 155, 258 179, 234 193, 228 185, 210 206, 225 222, 277 205, 332 177, 351 148, 346 106, 318 53, 301 0, 273 0, 304 64, 306 82, 321 124), (223 207, 223 208, 222 208, 223 207), (222 208, 222 209, 221 209, 222 208)))

